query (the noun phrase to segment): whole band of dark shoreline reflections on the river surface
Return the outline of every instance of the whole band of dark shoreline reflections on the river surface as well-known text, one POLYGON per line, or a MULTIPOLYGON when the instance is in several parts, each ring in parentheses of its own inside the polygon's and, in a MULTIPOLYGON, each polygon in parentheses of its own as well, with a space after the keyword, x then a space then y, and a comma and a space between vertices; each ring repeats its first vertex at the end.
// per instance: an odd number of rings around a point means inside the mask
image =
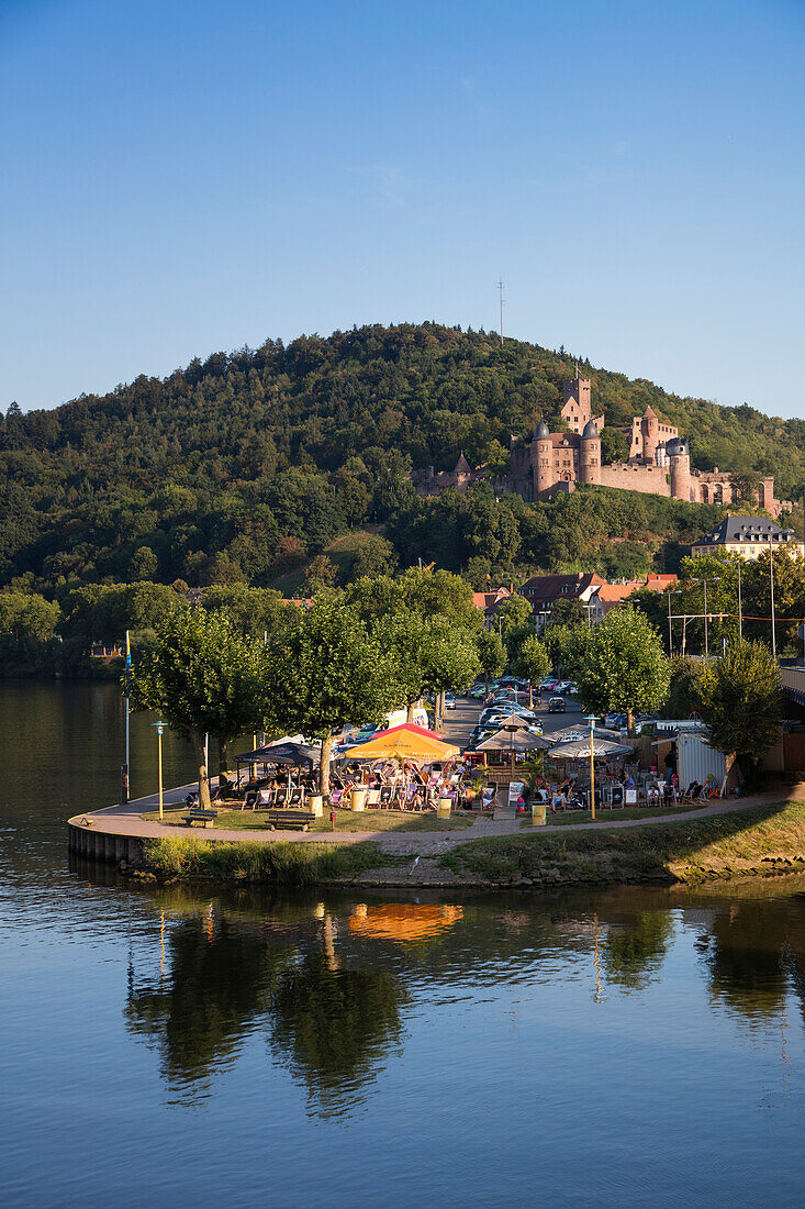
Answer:
POLYGON ((202 898, 172 887, 137 903, 158 912, 158 954, 129 966, 124 1016, 129 1035, 158 1052, 173 1104, 214 1097, 215 1080, 259 1035, 261 1077, 282 1066, 311 1111, 348 1117, 376 1093, 389 1055, 404 1057, 423 991, 454 1005, 456 1025, 471 1031, 468 1013, 490 984, 538 994, 568 979, 603 1005, 661 985, 674 945, 710 1002, 741 1024, 776 1026, 789 1001, 803 1011, 803 909, 789 895, 616 887, 459 904, 377 892, 202 898))

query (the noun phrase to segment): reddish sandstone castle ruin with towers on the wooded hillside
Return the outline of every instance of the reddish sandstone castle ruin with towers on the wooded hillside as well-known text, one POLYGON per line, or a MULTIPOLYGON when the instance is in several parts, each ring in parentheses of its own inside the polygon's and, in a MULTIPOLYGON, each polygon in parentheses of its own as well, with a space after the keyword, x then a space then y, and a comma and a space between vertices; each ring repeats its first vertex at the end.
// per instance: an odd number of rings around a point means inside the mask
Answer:
MULTIPOLYGON (((732 476, 718 467, 712 472, 691 470, 687 441, 671 424, 661 423, 651 407, 632 417, 627 461, 606 465, 601 457, 604 417, 592 415, 590 386, 587 378, 580 377, 563 383, 561 415, 567 432, 551 433, 542 421, 528 444, 515 436, 510 439, 509 474, 491 480, 496 492, 515 493, 528 501, 550 499, 584 482, 699 504, 732 503, 732 476)), ((471 482, 488 476, 483 468, 473 470, 462 453, 454 470, 434 473, 428 467, 416 470, 412 479, 419 494, 438 496, 448 487, 464 492, 471 482)), ((787 501, 775 499, 771 475, 758 485, 758 507, 775 517, 790 508, 787 501)))

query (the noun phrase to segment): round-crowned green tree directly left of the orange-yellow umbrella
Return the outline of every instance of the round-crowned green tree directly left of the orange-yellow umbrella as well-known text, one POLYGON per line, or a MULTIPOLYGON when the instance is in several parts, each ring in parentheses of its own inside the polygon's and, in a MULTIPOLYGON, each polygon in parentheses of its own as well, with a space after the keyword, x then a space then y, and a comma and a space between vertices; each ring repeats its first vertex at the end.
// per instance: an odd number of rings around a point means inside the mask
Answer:
POLYGON ((317 597, 293 629, 270 643, 266 721, 270 729, 322 741, 319 785, 330 788, 336 733, 355 722, 380 722, 402 695, 400 671, 383 634, 370 634, 357 609, 317 597))

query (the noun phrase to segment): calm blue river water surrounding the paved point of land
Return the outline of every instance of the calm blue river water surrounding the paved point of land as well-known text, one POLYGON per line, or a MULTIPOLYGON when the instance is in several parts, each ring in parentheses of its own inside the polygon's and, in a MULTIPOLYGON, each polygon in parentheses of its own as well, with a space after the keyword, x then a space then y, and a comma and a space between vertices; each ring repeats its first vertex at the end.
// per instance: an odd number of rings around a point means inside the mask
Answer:
POLYGON ((121 758, 112 687, 0 683, 4 1205, 805 1199, 805 885, 141 889, 66 852, 121 758))

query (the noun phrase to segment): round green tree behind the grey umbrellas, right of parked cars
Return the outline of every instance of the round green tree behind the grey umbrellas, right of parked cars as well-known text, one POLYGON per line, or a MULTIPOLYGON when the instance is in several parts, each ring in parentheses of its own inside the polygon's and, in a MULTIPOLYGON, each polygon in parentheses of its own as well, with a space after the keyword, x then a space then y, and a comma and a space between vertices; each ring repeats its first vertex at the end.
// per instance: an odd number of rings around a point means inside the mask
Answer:
POLYGON ((612 609, 592 631, 578 676, 585 710, 600 715, 622 710, 630 731, 635 712, 662 705, 670 678, 659 634, 631 604, 612 609))

